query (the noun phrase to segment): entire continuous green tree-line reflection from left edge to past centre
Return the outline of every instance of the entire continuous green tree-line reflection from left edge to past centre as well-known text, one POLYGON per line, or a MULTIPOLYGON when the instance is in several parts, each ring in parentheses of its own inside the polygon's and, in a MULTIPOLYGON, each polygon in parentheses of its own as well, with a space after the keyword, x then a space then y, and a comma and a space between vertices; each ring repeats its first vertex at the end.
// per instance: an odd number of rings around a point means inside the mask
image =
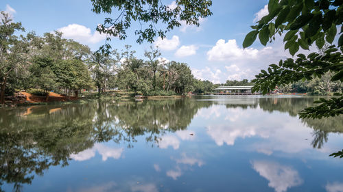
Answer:
POLYGON ((128 141, 132 147, 139 135, 158 141, 166 132, 187 128, 198 109, 210 105, 147 100, 0 109, 0 185, 12 183, 14 191, 21 191, 34 174, 43 175, 51 165, 68 165, 71 154, 97 142, 128 141))

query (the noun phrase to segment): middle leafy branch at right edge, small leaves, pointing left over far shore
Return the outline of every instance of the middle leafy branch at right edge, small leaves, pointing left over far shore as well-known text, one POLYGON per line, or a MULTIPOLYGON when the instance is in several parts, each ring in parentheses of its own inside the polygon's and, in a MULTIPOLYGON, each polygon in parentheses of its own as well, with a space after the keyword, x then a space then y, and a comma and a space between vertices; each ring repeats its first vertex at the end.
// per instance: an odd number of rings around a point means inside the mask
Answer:
POLYGON ((307 56, 303 54, 297 56, 297 59, 288 58, 279 61, 279 64, 271 64, 268 72, 261 70, 253 80, 255 86, 252 91, 267 94, 274 90, 275 86, 311 80, 314 77, 320 78, 328 71, 334 72, 331 81, 343 82, 343 55, 335 46, 329 46, 324 55, 311 53, 307 56))

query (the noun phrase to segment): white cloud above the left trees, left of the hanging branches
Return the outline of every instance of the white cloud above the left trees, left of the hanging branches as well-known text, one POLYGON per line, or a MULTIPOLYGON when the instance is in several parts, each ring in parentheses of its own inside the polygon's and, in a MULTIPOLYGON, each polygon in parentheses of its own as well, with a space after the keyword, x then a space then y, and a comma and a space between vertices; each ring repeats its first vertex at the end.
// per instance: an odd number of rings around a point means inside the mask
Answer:
POLYGON ((88 27, 78 24, 70 24, 67 27, 57 29, 57 31, 63 33, 63 38, 73 39, 83 44, 95 44, 106 38, 105 34, 100 34, 98 31, 92 33, 88 27))

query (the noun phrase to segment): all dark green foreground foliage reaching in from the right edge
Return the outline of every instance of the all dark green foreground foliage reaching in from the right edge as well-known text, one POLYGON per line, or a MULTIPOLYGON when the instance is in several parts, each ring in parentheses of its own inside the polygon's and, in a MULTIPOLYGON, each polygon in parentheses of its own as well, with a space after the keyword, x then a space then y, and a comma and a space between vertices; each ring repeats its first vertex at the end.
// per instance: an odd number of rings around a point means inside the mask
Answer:
MULTIPOLYGON (((343 22, 343 1, 340 0, 270 0, 268 11, 269 14, 252 26, 254 30, 246 35, 244 48, 250 46, 257 36, 261 44, 266 45, 268 41, 275 40, 277 33, 281 36, 287 31, 283 41, 291 55, 295 55, 299 47, 308 50, 314 42, 318 49, 322 49, 326 43, 333 44, 337 27, 343 22)), ((338 44, 329 46, 324 54, 298 54, 295 60, 289 58, 281 60, 279 65, 271 64, 268 72, 261 70, 256 76, 252 91, 261 90, 266 94, 276 85, 320 78, 327 72, 333 73, 331 81, 343 82, 342 45, 343 34, 338 44)), ((330 100, 320 99, 317 103, 320 105, 300 112, 300 118, 327 118, 343 114, 343 96, 330 100)))

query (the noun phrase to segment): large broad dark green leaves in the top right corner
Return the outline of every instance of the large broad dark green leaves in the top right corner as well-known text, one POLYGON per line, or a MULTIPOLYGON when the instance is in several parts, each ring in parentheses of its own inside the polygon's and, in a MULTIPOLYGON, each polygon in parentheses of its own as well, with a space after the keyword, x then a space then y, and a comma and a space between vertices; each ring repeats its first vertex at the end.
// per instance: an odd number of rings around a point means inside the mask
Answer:
MULTIPOLYGON (((337 27, 343 22, 343 1, 327 0, 270 0, 269 14, 251 26, 253 31, 246 35, 243 47, 250 46, 257 36, 264 46, 275 40, 276 34, 285 33, 285 50, 295 55, 300 48, 309 49, 316 44, 322 49, 325 42, 332 44, 337 35, 337 27), (270 27, 272 26, 272 27, 270 27)), ((343 45, 340 30, 338 47, 343 45)))

